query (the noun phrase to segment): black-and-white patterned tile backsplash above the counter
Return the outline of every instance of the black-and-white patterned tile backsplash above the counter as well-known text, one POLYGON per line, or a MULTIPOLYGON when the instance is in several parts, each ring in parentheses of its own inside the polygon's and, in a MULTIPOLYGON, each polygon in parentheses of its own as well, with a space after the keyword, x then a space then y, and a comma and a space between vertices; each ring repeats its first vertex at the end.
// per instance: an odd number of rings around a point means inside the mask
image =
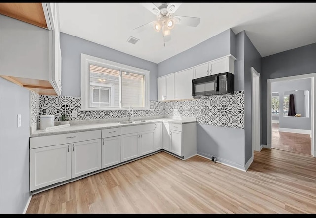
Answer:
MULTIPOLYGON (((70 120, 128 117, 128 110, 80 111, 80 97, 40 95, 39 100, 39 115, 53 114, 55 115, 55 121, 59 121, 59 116, 63 112, 71 116, 73 110, 77 111, 78 117, 71 118, 70 120)), ((37 103, 34 104, 36 105, 37 103)), ((150 101, 149 110, 134 110, 133 112, 134 117, 161 115, 196 117, 197 123, 200 124, 243 129, 244 91, 235 91, 234 94, 205 96, 201 99, 192 100, 168 102, 150 101), (207 101, 210 101, 210 106, 207 106, 207 101)))

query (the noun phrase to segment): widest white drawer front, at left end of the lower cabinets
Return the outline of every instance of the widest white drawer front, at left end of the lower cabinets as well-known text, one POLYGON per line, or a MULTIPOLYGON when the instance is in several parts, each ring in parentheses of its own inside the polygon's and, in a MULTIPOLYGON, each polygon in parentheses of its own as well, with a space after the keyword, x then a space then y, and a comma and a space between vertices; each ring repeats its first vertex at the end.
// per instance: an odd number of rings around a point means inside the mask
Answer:
POLYGON ((30 149, 47 147, 51 145, 68 144, 91 139, 101 139, 101 130, 31 137, 30 149))

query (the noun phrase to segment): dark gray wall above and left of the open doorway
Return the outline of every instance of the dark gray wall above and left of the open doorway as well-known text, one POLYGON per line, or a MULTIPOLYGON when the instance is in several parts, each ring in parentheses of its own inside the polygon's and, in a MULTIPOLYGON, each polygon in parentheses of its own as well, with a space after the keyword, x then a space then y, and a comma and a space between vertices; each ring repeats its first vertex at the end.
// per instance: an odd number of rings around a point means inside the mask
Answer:
POLYGON ((267 144, 267 80, 316 73, 316 43, 262 58, 262 144, 267 144))

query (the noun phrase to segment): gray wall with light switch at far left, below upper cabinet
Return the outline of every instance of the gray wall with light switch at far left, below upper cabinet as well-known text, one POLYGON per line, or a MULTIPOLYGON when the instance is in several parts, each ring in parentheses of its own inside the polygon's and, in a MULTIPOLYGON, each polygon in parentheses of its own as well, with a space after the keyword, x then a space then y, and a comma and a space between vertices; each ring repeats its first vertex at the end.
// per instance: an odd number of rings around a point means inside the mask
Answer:
POLYGON ((29 90, 0 78, 0 213, 23 213, 29 192, 29 90), (17 114, 22 126, 17 127, 17 114))

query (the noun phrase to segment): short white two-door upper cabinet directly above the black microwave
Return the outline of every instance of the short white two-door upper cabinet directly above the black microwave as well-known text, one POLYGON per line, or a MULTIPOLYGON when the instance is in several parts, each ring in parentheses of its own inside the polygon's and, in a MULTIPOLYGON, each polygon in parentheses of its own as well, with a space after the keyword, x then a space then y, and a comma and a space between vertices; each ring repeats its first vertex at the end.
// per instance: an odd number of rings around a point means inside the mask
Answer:
POLYGON ((227 55, 222 58, 210 61, 205 64, 194 67, 194 79, 214 75, 218 73, 229 72, 234 74, 234 61, 236 58, 232 55, 227 55))

